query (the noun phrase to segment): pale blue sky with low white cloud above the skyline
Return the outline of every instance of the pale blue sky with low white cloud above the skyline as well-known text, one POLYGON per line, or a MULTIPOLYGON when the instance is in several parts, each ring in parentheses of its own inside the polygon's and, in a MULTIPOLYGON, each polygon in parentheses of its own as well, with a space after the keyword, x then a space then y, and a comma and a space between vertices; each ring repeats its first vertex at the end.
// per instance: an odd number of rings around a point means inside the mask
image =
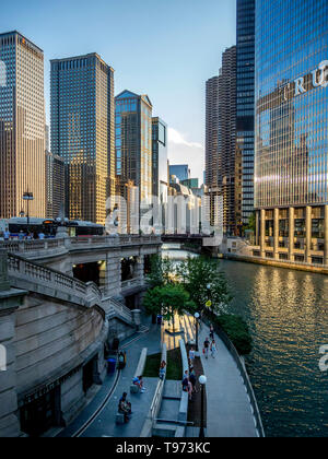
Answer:
POLYGON ((97 52, 115 69, 115 94, 148 94, 168 125, 172 164, 202 181, 206 81, 236 40, 235 0, 15 0, 2 2, 0 33, 17 30, 50 59, 97 52))

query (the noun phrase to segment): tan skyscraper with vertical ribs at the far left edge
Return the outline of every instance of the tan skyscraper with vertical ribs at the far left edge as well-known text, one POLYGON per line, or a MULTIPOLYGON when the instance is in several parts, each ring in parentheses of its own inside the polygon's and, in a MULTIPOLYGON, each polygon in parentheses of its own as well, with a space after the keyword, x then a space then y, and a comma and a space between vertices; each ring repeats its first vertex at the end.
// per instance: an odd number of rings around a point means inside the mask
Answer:
POLYGON ((44 217, 44 52, 17 32, 0 35, 0 217, 44 217))

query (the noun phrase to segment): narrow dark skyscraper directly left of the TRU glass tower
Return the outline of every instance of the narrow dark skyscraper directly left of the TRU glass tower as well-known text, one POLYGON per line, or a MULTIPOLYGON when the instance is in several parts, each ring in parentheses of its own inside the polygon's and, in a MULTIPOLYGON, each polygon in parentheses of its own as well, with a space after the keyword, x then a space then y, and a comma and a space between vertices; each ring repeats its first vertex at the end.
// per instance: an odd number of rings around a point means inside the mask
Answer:
POLYGON ((236 192, 239 220, 254 213, 255 0, 237 0, 237 156, 241 187, 236 192))

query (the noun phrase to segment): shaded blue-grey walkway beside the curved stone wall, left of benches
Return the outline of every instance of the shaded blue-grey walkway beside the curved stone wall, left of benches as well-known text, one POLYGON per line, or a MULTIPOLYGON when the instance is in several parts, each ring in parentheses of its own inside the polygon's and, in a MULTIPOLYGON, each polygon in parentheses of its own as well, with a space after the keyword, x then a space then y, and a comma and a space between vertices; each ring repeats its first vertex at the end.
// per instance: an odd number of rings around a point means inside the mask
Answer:
MULTIPOLYGON (((150 331, 140 337, 131 337, 122 342, 120 349, 127 352, 127 366, 121 372, 117 387, 105 408, 93 420, 82 437, 139 437, 143 421, 151 407, 157 385, 157 378, 144 378, 147 391, 144 393, 130 393, 130 385, 137 369, 140 354, 143 348, 148 348, 148 355, 161 351, 161 331, 157 326, 150 326, 150 331), (138 340, 134 340, 139 338, 138 340), (116 413, 118 401, 122 392, 128 393, 128 400, 132 403, 132 417, 128 424, 117 425, 116 413)), ((71 437, 78 432, 92 414, 98 409, 114 384, 114 376, 107 376, 104 385, 95 399, 81 412, 78 419, 62 431, 60 437, 71 437)))

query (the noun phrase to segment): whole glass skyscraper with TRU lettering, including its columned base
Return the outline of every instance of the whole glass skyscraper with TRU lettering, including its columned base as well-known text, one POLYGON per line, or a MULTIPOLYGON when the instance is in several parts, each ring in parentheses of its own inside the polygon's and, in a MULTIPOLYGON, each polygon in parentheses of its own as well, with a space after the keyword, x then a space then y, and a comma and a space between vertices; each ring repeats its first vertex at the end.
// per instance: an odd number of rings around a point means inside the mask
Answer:
POLYGON ((256 255, 328 264, 328 2, 256 2, 256 255))

